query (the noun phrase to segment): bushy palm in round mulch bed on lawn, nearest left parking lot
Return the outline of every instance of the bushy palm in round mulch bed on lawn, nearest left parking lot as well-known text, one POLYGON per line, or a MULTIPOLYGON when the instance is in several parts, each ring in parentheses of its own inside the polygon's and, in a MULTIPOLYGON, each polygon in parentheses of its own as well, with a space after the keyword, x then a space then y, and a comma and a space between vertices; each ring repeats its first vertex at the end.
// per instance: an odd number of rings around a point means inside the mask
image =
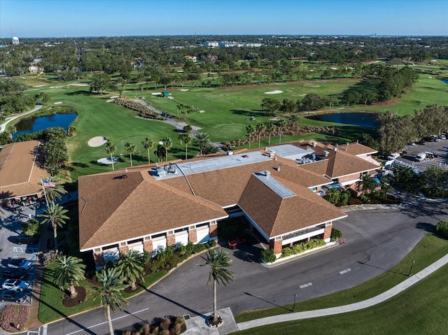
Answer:
POLYGON ((55 283, 62 289, 69 287, 71 299, 76 298, 78 295, 75 285, 80 280, 85 279, 84 269, 85 264, 78 257, 59 255, 56 258, 56 266, 53 270, 55 273, 55 283))

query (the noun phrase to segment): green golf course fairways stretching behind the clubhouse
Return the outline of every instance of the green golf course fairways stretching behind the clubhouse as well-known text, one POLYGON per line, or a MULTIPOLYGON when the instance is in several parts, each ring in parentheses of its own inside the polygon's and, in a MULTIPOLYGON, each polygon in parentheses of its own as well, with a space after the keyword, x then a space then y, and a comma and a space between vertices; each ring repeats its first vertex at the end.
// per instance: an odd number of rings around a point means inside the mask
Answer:
MULTIPOLYGON (((425 69, 440 69, 440 73, 448 73, 446 66, 440 63, 435 66, 425 66, 425 69), (443 69, 443 70, 442 70, 443 69)), ((439 71, 439 70, 437 70, 439 71)), ((421 74, 418 83, 412 87, 398 101, 385 104, 384 106, 356 106, 346 108, 338 106, 332 111, 398 111, 400 115, 413 113, 414 109, 422 109, 428 104, 446 104, 448 85, 442 81, 427 74, 421 74)), ((78 176, 92 173, 111 171, 111 166, 97 164, 97 159, 106 157, 104 145, 98 148, 91 148, 87 141, 95 136, 104 136, 109 141, 116 143, 116 157, 120 161, 115 164, 116 169, 130 167, 130 157, 125 151, 124 144, 131 141, 137 145, 133 154, 133 165, 146 164, 147 152, 144 150, 141 141, 149 136, 154 148, 150 155, 152 162, 155 162, 154 150, 158 141, 165 136, 172 138, 173 147, 169 150, 169 159, 183 159, 185 147, 178 140, 179 133, 174 127, 164 123, 151 120, 142 120, 137 118, 137 112, 130 111, 123 106, 117 106, 106 102, 112 95, 90 94, 88 86, 66 85, 57 81, 52 81, 48 76, 28 76, 20 79, 22 83, 29 85, 27 94, 36 94, 46 92, 50 95, 51 101, 46 108, 51 108, 55 102, 62 101, 61 106, 71 106, 77 111, 78 117, 73 121, 73 125, 78 127, 76 136, 67 138, 67 147, 71 156, 71 176, 76 181, 78 176), (45 85, 45 86, 41 86, 45 85), (141 152, 139 154, 139 151, 141 152)), ((88 83, 86 78, 83 84, 88 83)), ((204 113, 192 113, 188 115, 188 124, 201 127, 202 131, 207 132, 211 141, 225 142, 232 141, 246 136, 246 126, 248 124, 257 124, 259 122, 269 122, 271 117, 266 117, 261 111, 260 104, 262 99, 271 97, 282 101, 283 99, 300 100, 304 95, 316 93, 320 96, 341 97, 344 92, 351 89, 368 88, 372 83, 362 80, 315 80, 300 83, 274 83, 270 85, 253 85, 245 87, 220 87, 220 88, 198 88, 186 86, 186 90, 181 91, 181 87, 168 88, 172 92, 174 100, 154 97, 153 90, 139 90, 137 85, 127 85, 125 94, 132 98, 145 99, 162 111, 178 115, 176 105, 181 102, 189 106, 194 106, 204 113), (130 90, 134 88, 135 90, 130 90), (274 90, 282 91, 281 94, 265 94, 274 90), (255 120, 248 121, 249 117, 255 117, 255 120)), ((151 87, 150 85, 146 87, 151 87)), ((282 142, 295 141, 302 138, 315 138, 318 141, 328 143, 341 143, 344 141, 356 141, 363 132, 372 133, 373 129, 362 129, 343 124, 332 124, 329 122, 320 122, 307 120, 301 117, 300 124, 303 126, 335 126, 340 130, 339 136, 329 136, 323 134, 304 134, 293 135, 283 134, 282 142)), ((272 144, 279 143, 278 136, 272 137, 272 144)), ((256 143, 258 145, 258 143, 256 143)), ((262 146, 267 145, 267 139, 262 141, 262 146)), ((246 145, 247 147, 248 145, 246 145)), ((188 156, 194 157, 199 152, 194 143, 188 145, 188 156)), ((255 148, 253 145, 251 148, 255 148)))

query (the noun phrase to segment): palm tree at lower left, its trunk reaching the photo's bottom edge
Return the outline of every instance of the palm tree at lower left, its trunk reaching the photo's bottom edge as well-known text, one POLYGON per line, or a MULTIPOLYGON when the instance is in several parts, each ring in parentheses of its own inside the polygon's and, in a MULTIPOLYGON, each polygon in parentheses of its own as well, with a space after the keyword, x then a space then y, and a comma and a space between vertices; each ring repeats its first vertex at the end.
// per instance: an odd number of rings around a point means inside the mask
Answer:
POLYGON ((123 311, 122 304, 129 305, 129 302, 123 297, 123 279, 120 278, 118 269, 103 269, 97 272, 97 278, 100 286, 92 287, 94 291, 94 299, 100 299, 104 308, 104 314, 109 322, 109 332, 113 335, 111 311, 115 313, 116 308, 123 311))

